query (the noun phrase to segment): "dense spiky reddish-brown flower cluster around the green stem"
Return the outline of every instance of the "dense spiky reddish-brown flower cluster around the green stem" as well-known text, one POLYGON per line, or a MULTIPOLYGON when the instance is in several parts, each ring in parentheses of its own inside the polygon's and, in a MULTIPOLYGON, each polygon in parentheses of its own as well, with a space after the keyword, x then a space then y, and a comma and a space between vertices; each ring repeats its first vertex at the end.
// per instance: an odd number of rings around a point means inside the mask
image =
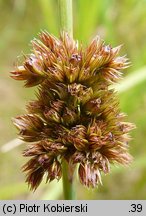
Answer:
POLYGON ((27 105, 27 114, 13 121, 20 138, 31 144, 23 152, 31 159, 23 166, 26 182, 35 190, 46 181, 60 179, 62 161, 73 171, 78 164, 80 182, 87 187, 101 183, 101 173, 110 164, 128 165, 129 131, 111 84, 128 67, 120 46, 112 48, 96 37, 87 48, 63 32, 60 39, 42 32, 32 41, 33 53, 12 78, 25 87, 38 85, 37 99, 27 105))

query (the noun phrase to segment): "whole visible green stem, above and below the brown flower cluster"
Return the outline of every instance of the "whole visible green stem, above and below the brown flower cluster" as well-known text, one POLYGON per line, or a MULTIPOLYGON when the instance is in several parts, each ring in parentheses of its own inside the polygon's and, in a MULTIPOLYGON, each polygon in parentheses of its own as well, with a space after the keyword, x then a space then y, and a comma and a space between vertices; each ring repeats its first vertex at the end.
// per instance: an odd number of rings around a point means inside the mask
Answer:
MULTIPOLYGON (((59 10, 61 30, 68 32, 68 34, 73 37, 72 0, 59 0, 59 10)), ((75 199, 72 182, 73 179, 69 179, 69 166, 65 160, 63 160, 62 163, 62 175, 64 199, 75 199)))

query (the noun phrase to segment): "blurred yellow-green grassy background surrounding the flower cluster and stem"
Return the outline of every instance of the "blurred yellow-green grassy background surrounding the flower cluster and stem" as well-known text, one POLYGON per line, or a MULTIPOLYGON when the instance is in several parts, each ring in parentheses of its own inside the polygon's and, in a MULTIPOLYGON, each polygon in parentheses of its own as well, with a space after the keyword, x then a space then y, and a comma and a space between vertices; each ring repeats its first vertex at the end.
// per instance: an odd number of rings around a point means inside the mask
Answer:
MULTIPOLYGON (((73 0, 74 38, 87 44, 96 34, 112 46, 123 44, 132 66, 124 71, 119 86, 121 110, 136 124, 129 168, 112 167, 103 175, 103 186, 89 190, 75 182, 78 199, 146 198, 146 0, 73 0)), ((57 0, 0 0, 0 199, 62 199, 61 182, 41 184, 32 193, 20 168, 25 145, 11 149, 7 142, 17 137, 11 117, 25 112, 35 89, 9 77, 17 56, 29 53, 30 41, 40 30, 58 36, 57 0), (7 151, 5 150, 7 147, 7 151)))

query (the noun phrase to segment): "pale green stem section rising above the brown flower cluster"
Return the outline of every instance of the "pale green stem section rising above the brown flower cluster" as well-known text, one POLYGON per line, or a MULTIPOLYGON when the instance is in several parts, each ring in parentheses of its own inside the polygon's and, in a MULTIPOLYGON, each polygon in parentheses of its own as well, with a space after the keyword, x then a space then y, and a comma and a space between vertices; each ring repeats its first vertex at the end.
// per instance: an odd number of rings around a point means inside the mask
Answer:
POLYGON ((61 30, 73 37, 72 0, 59 0, 61 30))

